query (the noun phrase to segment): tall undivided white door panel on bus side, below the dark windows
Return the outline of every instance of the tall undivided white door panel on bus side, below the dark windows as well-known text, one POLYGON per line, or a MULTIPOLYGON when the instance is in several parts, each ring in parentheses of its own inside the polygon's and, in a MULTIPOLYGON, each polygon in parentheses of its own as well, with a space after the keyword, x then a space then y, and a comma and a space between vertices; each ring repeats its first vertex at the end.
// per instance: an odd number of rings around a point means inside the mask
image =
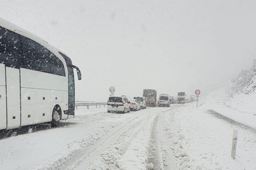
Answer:
POLYGON ((7 128, 20 126, 19 69, 6 67, 7 128))

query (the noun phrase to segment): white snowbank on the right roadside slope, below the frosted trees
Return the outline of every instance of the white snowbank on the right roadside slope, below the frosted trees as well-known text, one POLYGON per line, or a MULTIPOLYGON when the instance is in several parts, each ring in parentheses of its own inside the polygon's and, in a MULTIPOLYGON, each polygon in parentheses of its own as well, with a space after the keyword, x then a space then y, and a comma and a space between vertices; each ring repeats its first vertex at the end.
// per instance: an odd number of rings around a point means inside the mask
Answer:
POLYGON ((220 88, 207 96, 207 102, 202 105, 202 108, 214 110, 227 118, 256 129, 255 87, 256 79, 254 78, 241 94, 233 98, 228 97, 225 88, 220 88))

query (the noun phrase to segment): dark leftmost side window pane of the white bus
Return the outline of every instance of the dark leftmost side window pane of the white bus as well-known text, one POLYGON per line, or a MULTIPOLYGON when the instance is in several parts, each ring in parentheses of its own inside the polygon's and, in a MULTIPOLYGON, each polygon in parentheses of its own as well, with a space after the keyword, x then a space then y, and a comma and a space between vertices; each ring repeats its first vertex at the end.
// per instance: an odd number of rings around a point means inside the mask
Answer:
POLYGON ((13 68, 20 68, 23 65, 20 35, 2 27, 0 27, 0 63, 13 68))

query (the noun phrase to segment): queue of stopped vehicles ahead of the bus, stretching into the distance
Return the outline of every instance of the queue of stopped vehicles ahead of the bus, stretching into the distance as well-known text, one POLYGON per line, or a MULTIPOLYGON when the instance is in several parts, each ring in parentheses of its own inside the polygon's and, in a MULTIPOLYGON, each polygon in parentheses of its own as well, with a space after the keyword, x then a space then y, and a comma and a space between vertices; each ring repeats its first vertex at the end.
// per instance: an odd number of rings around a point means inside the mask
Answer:
POLYGON ((108 113, 118 112, 124 114, 145 109, 146 106, 170 107, 174 103, 180 104, 195 101, 194 95, 190 95, 190 99, 187 99, 186 96, 185 92, 178 92, 176 99, 168 94, 160 94, 157 100, 156 90, 144 89, 142 97, 134 97, 133 99, 128 99, 126 96, 110 96, 107 102, 107 110, 108 113))

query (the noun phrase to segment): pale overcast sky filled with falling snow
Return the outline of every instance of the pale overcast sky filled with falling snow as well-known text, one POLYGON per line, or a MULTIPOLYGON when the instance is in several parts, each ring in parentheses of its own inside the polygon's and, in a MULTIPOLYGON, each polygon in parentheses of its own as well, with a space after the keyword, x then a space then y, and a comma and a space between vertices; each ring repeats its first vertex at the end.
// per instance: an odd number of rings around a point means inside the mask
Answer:
POLYGON ((256 1, 0 0, 0 17, 64 51, 82 71, 76 100, 202 95, 256 57, 256 1))

